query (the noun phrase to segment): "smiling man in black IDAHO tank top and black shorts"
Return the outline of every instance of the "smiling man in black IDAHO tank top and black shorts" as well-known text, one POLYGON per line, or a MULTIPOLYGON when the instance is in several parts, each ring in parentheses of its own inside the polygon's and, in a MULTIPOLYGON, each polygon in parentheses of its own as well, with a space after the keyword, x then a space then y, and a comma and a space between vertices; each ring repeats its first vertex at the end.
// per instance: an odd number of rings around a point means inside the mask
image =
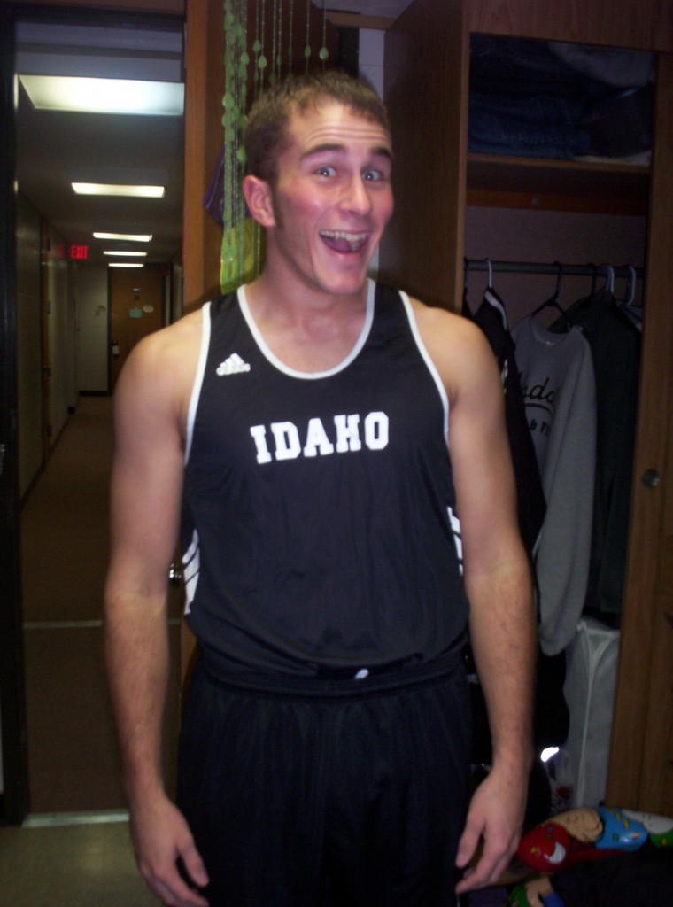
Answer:
POLYGON ((393 210, 376 93, 290 80, 246 149, 263 273, 143 341, 116 393, 106 639, 141 872, 176 907, 453 903, 508 863, 531 764, 499 375, 478 328, 366 278, 393 210), (180 809, 160 770, 179 530, 200 641, 180 809), (469 811, 468 622, 493 735, 469 811))

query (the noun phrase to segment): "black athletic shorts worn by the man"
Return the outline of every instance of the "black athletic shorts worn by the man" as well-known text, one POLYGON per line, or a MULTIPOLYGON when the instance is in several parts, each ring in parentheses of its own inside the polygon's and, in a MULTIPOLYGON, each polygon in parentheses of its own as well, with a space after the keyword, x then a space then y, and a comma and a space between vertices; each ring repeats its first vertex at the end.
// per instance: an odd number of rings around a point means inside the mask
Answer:
POLYGON ((454 907, 469 753, 459 658, 271 684, 201 664, 178 804, 210 907, 454 907))

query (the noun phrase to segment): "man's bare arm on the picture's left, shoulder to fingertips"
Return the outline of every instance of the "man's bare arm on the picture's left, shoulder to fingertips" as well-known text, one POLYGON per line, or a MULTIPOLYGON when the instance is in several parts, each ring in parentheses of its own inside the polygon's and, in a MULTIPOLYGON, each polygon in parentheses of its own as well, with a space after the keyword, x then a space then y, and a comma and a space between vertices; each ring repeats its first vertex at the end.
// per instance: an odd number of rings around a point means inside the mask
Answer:
POLYGON ((168 567, 178 534, 182 401, 190 363, 190 345, 185 356, 183 345, 173 341, 184 333, 170 329, 136 347, 115 391, 105 649, 141 872, 165 903, 203 907, 206 901, 190 891, 176 867, 180 857, 194 883, 207 883, 161 773, 169 675, 168 567))

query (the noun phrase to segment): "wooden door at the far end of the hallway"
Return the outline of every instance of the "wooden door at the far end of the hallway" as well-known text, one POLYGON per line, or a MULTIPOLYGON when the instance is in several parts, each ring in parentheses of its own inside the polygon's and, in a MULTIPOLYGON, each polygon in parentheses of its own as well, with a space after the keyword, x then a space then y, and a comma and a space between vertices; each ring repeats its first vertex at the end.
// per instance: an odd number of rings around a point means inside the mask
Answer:
POLYGON ((143 336, 162 326, 163 268, 110 268, 110 386, 143 336))

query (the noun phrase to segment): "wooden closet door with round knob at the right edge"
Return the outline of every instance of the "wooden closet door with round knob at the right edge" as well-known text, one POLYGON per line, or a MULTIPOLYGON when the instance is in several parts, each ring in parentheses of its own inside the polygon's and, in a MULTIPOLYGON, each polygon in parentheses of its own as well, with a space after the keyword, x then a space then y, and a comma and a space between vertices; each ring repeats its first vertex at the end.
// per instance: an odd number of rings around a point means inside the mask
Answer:
POLYGON ((673 814, 673 54, 660 54, 629 559, 607 795, 673 814))

